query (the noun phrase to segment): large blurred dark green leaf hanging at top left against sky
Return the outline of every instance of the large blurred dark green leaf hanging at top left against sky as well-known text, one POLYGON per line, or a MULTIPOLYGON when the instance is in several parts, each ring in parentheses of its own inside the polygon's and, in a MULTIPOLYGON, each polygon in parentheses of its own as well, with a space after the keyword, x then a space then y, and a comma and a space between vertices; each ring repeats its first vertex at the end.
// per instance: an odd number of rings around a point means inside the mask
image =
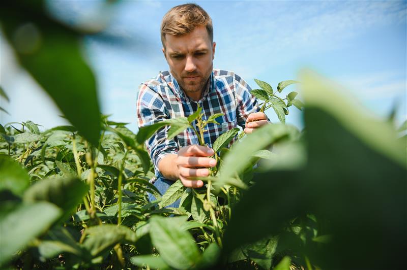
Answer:
POLYGON ((83 137, 98 145, 100 110, 96 81, 82 57, 81 37, 49 18, 44 10, 31 9, 32 5, 20 3, 9 6, 7 15, 2 12, 5 36, 24 69, 83 137))

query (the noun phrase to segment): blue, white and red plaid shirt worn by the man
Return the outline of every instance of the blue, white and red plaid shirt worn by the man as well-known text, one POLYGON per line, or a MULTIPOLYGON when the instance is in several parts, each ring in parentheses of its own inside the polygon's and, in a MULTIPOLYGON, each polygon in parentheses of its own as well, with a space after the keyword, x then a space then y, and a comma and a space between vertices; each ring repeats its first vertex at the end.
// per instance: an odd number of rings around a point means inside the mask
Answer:
MULTIPOLYGON (((215 140, 225 131, 240 125, 244 128, 249 114, 258 112, 258 102, 250 93, 250 86, 230 71, 213 70, 209 83, 199 101, 190 99, 181 90, 176 79, 167 71, 139 86, 137 98, 137 124, 151 125, 164 119, 193 114, 197 105, 202 107, 203 120, 216 113, 218 124, 209 123, 203 135, 205 143, 212 147, 215 140)), ((162 177, 158 163, 164 155, 177 154, 181 147, 199 144, 197 134, 188 128, 172 140, 167 139, 169 126, 159 129, 146 141, 147 150, 154 163, 156 177, 162 177)))

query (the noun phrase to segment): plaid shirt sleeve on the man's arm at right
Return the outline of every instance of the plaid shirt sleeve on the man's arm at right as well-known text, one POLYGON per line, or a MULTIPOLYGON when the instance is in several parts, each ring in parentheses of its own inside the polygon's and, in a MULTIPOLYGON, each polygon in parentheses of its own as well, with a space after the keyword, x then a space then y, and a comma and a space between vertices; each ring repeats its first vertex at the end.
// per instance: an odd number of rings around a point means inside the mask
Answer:
POLYGON ((260 107, 258 106, 257 98, 250 93, 250 86, 240 76, 235 74, 234 82, 238 125, 245 128, 246 119, 249 114, 259 112, 260 107))

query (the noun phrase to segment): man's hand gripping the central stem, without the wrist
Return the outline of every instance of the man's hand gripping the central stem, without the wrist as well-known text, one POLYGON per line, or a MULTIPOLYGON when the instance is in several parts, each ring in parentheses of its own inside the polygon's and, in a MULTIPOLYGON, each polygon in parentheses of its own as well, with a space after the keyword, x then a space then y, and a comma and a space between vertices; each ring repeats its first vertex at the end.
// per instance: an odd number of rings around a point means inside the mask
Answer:
POLYGON ((209 176, 208 167, 216 166, 216 160, 209 157, 214 153, 213 149, 196 144, 182 147, 178 151, 175 161, 178 167, 178 176, 184 186, 193 188, 203 186, 201 180, 191 180, 189 178, 209 176))

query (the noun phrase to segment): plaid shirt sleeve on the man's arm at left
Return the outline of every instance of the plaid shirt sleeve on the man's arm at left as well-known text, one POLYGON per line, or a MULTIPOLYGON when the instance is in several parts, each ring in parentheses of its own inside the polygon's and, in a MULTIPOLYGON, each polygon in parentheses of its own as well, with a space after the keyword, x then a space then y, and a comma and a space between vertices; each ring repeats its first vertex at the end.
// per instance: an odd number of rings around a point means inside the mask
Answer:
MULTIPOLYGON (((169 119, 162 97, 146 84, 139 86, 137 98, 137 125, 148 126, 169 119)), ((159 161, 167 154, 178 154, 176 139, 168 140, 169 126, 160 128, 146 141, 146 148, 153 161, 156 176, 163 177, 158 170, 159 161)))

